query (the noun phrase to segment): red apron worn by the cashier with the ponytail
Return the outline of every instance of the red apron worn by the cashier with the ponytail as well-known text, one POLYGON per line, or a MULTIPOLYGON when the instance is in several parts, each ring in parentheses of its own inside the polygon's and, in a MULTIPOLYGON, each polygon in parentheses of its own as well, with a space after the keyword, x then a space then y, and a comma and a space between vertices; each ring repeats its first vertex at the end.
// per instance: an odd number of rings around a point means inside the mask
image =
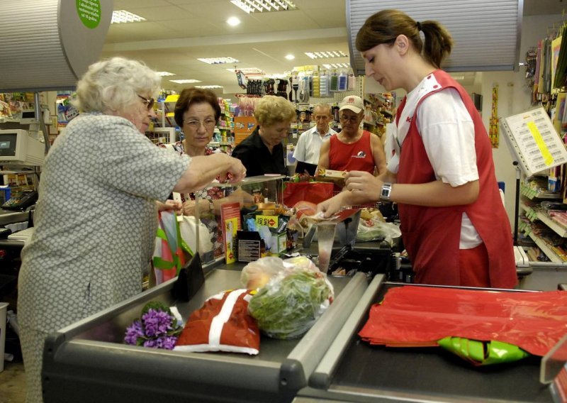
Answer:
MULTIPOLYGON (((461 95, 475 127, 476 165, 480 192, 472 204, 463 206, 427 207, 398 204, 403 243, 421 284, 461 285, 459 274, 459 241, 462 214, 466 213, 488 250, 490 287, 512 288, 517 284, 512 231, 504 209, 494 173, 492 148, 481 116, 464 89, 449 74, 437 70, 429 77, 439 89, 425 94, 417 102, 410 128, 400 153, 398 183, 427 183, 436 180, 433 167, 417 128, 417 109, 427 96, 452 87, 461 95)), ((400 105, 405 106, 405 99, 400 105)))

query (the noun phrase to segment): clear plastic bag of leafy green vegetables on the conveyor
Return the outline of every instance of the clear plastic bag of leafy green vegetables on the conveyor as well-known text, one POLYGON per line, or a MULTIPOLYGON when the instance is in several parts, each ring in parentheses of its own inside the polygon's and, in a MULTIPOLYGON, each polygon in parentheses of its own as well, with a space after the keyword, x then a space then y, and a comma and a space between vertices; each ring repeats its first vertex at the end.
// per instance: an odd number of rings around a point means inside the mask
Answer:
POLYGON ((319 271, 293 267, 279 272, 250 299, 248 311, 272 338, 297 338, 332 302, 334 292, 319 271))

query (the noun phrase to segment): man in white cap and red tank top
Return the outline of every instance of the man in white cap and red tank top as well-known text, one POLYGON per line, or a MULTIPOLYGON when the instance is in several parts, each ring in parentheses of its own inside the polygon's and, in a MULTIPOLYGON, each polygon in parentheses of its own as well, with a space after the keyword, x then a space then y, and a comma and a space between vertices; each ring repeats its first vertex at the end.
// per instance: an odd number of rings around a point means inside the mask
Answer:
POLYGON ((378 136, 362 130, 364 102, 360 96, 345 96, 339 104, 342 130, 321 145, 318 168, 337 171, 386 172, 386 155, 378 136))

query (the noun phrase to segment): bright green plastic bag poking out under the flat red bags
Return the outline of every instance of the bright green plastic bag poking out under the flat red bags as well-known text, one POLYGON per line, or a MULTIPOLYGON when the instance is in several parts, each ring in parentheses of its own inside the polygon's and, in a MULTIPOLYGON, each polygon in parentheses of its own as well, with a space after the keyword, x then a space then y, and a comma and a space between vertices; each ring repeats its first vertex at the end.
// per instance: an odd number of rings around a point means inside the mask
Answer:
POLYGON ((479 365, 512 363, 529 356, 524 350, 513 344, 501 341, 478 341, 461 337, 446 337, 437 341, 439 346, 468 361, 479 365))

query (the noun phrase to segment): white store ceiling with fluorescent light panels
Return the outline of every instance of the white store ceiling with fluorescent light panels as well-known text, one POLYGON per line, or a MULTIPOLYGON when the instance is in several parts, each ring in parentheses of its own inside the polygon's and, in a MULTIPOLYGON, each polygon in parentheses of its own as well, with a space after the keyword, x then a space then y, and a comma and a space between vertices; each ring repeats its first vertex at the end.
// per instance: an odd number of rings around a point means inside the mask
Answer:
MULTIPOLYGON (((208 65, 199 57, 233 57, 236 67, 256 67, 266 74, 288 74, 293 67, 348 63, 349 57, 312 60, 305 52, 341 50, 349 54, 345 0, 293 0, 297 9, 247 14, 229 0, 114 0, 115 10, 146 18, 140 23, 112 24, 102 57, 121 55, 144 61, 164 77, 163 87, 180 91, 191 85, 221 85, 219 93, 245 93, 228 68, 208 65), (237 16, 242 23, 225 22, 237 16), (286 60, 291 53, 295 60, 286 60), (198 79, 175 84, 169 79, 198 79)), ((566 1, 567 3, 567 1, 566 1)), ((558 14, 560 0, 525 0, 524 15, 558 14)), ((467 74, 470 75, 470 74, 467 74)), ((474 77, 472 77, 474 78, 474 77)), ((288 89, 289 90, 289 89, 288 89)))

